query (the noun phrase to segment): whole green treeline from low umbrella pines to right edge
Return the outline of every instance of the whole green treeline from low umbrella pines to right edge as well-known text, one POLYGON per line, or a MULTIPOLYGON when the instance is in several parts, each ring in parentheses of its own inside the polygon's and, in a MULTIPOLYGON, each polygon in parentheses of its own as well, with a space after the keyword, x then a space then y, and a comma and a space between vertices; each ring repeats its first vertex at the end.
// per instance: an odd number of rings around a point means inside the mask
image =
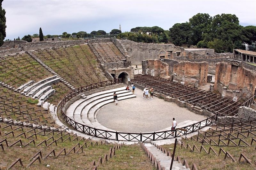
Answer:
POLYGON ((216 52, 233 52, 234 48, 245 49, 245 45, 256 41, 256 26, 241 26, 236 15, 221 14, 211 17, 198 13, 189 22, 176 23, 169 31, 158 26, 135 27, 131 32, 118 34, 117 38, 127 37, 136 42, 167 43, 176 46, 187 44, 198 48, 213 48, 216 52))

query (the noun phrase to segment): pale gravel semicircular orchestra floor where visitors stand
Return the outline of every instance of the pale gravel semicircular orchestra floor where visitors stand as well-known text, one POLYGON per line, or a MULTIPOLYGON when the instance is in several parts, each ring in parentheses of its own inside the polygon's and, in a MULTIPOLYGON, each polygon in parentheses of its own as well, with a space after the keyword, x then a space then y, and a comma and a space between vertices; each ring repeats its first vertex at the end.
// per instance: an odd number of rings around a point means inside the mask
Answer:
POLYGON ((172 126, 172 118, 179 122, 186 120, 201 121, 203 115, 195 114, 187 108, 179 107, 176 103, 167 102, 154 97, 146 100, 143 91, 136 88, 137 97, 119 101, 102 107, 97 112, 97 120, 103 126, 116 131, 139 133, 154 132, 172 126))

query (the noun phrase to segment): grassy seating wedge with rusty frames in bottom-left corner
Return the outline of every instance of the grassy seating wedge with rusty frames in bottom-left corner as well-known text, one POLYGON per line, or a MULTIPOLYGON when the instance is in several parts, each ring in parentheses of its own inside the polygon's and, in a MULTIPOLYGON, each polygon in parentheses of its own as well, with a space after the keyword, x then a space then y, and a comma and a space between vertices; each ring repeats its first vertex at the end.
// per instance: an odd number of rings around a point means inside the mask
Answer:
POLYGON ((0 167, 32 169, 86 169, 103 157, 114 144, 94 142, 64 131, 54 132, 0 123, 0 167), (82 153, 82 154, 81 154, 82 153), (70 155, 71 154, 71 155, 70 155), (70 164, 72 162, 72 164, 70 164))

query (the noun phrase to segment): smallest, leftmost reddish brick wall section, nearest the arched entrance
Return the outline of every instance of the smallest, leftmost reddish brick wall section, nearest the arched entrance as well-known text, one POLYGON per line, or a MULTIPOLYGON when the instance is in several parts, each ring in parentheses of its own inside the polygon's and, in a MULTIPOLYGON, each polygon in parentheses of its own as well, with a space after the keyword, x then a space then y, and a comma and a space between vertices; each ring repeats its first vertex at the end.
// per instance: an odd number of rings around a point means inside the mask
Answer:
POLYGON ((158 59, 143 60, 142 61, 142 74, 150 76, 169 78, 169 65, 158 59))

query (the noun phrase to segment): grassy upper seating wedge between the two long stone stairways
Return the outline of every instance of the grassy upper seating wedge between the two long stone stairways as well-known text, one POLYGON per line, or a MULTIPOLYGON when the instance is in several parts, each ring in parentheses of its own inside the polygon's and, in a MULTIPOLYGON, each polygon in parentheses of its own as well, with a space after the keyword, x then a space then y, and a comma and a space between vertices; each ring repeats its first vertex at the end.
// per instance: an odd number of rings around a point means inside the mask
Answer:
POLYGON ((37 50, 33 53, 75 87, 106 79, 87 45, 37 50))

